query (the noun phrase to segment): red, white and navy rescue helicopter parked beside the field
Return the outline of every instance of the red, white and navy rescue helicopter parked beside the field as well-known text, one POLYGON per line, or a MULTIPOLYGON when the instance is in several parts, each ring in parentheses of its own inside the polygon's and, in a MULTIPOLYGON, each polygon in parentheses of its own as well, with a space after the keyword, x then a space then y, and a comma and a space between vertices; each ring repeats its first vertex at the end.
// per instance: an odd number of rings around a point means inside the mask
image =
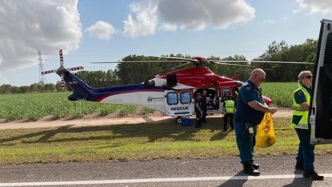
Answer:
MULTIPOLYGON (((57 73, 61 77, 61 86, 64 90, 64 82, 73 89, 73 94, 68 97, 70 101, 87 100, 100 103, 131 104, 141 105, 153 110, 160 111, 166 115, 176 117, 176 122, 181 123, 182 118, 188 118, 195 114, 194 98, 197 92, 207 91, 210 98, 207 107, 207 114, 220 114, 222 105, 220 100, 226 90, 232 96, 237 96, 239 87, 243 82, 236 81, 237 76, 226 78, 214 74, 208 67, 201 67, 202 64, 222 64, 240 67, 251 67, 248 65, 228 64, 226 62, 262 62, 262 61, 216 61, 206 60, 203 57, 192 59, 177 57, 156 57, 160 61, 121 61, 121 62, 92 62, 92 63, 141 63, 141 62, 182 62, 186 65, 193 63, 196 67, 180 69, 166 73, 152 80, 140 84, 123 86, 112 86, 103 88, 91 88, 74 76, 71 71, 83 69, 80 67, 64 68, 62 50, 60 54, 60 68, 41 74, 57 73)), ((152 57, 152 56, 151 56, 152 57)), ((271 61, 264 61, 270 63, 271 61)), ((306 62, 274 62, 273 63, 306 63, 306 62)), ((176 66, 178 67, 178 66, 176 66)), ((264 97, 268 105, 272 100, 264 97)))

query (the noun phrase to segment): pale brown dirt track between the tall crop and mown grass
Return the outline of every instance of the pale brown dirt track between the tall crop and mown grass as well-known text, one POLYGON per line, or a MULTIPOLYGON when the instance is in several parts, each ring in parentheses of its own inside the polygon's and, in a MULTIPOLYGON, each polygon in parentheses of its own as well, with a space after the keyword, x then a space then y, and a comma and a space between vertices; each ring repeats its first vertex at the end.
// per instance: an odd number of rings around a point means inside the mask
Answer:
MULTIPOLYGON (((278 111, 273 114, 273 116, 274 118, 288 118, 292 116, 292 110, 290 108, 278 108, 278 111)), ((208 115, 207 118, 221 118, 221 115, 208 115)), ((99 117, 98 114, 90 114, 84 116, 82 119, 64 118, 60 120, 52 120, 52 116, 45 116, 44 118, 36 122, 27 122, 25 120, 6 122, 5 120, 0 120, 0 129, 45 128, 66 125, 78 127, 117 124, 160 123, 160 121, 162 120, 169 120, 169 122, 173 122, 174 118, 157 111, 143 116, 134 115, 120 117, 120 113, 113 113, 104 117, 99 117)))

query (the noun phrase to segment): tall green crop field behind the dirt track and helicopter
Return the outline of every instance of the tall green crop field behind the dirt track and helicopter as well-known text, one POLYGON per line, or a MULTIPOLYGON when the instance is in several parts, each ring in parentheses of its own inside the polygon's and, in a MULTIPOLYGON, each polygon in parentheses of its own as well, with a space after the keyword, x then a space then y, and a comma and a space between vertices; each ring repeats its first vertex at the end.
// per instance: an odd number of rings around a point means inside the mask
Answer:
MULTIPOLYGON (((263 83, 263 94, 271 98, 274 106, 291 106, 292 91, 297 83, 263 83)), ((69 101, 72 92, 48 92, 0 95, 0 119, 7 121, 28 119, 38 120, 47 115, 54 119, 81 118, 87 114, 98 113, 100 116, 118 112, 121 115, 136 113, 146 114, 150 109, 133 105, 102 104, 86 101, 69 101)))

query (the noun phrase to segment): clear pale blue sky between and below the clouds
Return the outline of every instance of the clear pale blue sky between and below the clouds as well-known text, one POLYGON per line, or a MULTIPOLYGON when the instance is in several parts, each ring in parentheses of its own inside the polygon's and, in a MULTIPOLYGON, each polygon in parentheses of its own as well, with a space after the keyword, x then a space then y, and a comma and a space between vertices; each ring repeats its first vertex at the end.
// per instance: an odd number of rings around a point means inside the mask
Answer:
MULTIPOLYGON (((77 10, 82 36, 76 38, 76 41, 78 41, 76 47, 68 48, 67 51, 64 50, 65 67, 84 66, 88 71, 106 71, 110 68, 114 69, 116 64, 89 64, 88 62, 117 61, 130 54, 159 56, 181 53, 204 57, 211 55, 227 57, 239 54, 251 60, 264 53, 267 45, 274 40, 278 42, 285 40, 288 44, 299 44, 304 42, 306 38, 317 39, 320 27, 319 21, 322 18, 332 19, 332 10, 325 8, 329 1, 320 5, 318 11, 311 8, 314 1, 309 0, 298 2, 295 0, 245 1, 248 6, 254 9, 254 17, 246 21, 239 21, 237 24, 229 24, 227 28, 220 28, 220 25, 208 23, 201 30, 188 29, 189 26, 180 29, 179 24, 176 31, 167 31, 160 29, 162 20, 159 20, 159 25, 152 34, 128 37, 123 34, 124 20, 128 18, 129 14, 134 19, 136 18, 135 12, 129 6, 133 2, 144 7, 147 1, 78 1, 77 10), (307 6, 305 7, 305 5, 307 6), (112 34, 110 39, 99 39, 91 36, 86 29, 96 24, 97 21, 107 22, 116 30, 116 33, 112 34)), ((213 4, 212 0, 210 0, 211 2, 213 4)), ((158 7, 159 10, 161 10, 160 7, 158 7)), ((193 11, 197 14, 200 13, 200 10, 193 11)), ((212 15, 219 15, 218 11, 223 11, 223 7, 211 11, 217 12, 212 15)), ((169 10, 168 13, 172 14, 172 10, 169 10)), ((167 16, 169 15, 167 14, 167 16)), ((164 18, 164 20, 166 19, 164 18)), ((171 20, 171 18, 168 20, 171 20)), ((183 18, 183 20, 190 20, 190 17, 183 18)), ((173 23, 177 23, 176 21, 173 23)), ((16 31, 11 32, 15 33, 16 31)), ((43 36, 47 38, 48 34, 45 33, 43 36)), ((73 36, 64 38, 70 40, 73 36)), ((41 48, 44 53, 45 70, 59 67, 56 47, 52 46, 52 50, 48 47, 45 47, 45 50, 41 48)), ((60 47, 61 45, 59 45, 60 47)), ((0 48, 0 57, 4 53, 4 49, 0 48)), ((22 63, 25 66, 24 68, 0 68, 0 74, 3 76, 3 79, 0 79, 0 81, 3 80, 0 85, 9 83, 20 86, 38 82, 39 69, 36 65, 36 54, 33 58, 29 64, 22 63)), ((59 77, 55 74, 49 74, 46 75, 46 79, 48 82, 56 83, 59 77)))

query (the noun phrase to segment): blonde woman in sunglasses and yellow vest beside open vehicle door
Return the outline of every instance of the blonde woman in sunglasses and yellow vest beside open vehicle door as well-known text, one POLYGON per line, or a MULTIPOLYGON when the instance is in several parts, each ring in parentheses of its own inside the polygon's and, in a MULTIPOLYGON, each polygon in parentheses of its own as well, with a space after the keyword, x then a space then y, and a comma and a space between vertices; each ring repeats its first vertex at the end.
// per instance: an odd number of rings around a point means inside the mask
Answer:
POLYGON ((298 76, 299 87, 293 92, 293 118, 291 128, 296 130, 300 139, 296 156, 295 169, 302 170, 303 176, 315 180, 323 180, 314 168, 315 146, 310 144, 308 115, 313 75, 310 71, 302 71, 298 76))

